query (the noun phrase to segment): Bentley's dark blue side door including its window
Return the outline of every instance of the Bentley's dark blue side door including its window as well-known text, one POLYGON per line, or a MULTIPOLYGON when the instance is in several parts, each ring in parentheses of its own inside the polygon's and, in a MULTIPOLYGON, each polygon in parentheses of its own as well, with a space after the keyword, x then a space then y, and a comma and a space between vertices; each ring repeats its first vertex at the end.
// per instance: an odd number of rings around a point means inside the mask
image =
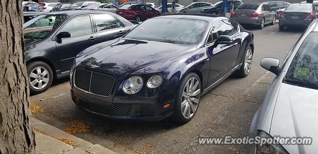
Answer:
MULTIPOLYGON (((238 55, 238 40, 226 44, 216 44, 216 40, 221 35, 232 36, 232 26, 229 20, 217 21, 210 32, 206 48, 210 57, 210 69, 208 85, 213 84, 226 73, 233 69, 238 55)), ((236 39, 236 37, 234 37, 236 39)))

